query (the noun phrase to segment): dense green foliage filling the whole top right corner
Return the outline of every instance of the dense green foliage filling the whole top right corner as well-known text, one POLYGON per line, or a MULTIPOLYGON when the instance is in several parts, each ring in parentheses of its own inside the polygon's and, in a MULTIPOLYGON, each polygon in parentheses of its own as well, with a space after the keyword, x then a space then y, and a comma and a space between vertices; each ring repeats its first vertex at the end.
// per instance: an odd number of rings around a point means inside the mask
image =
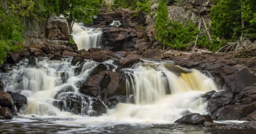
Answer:
POLYGON ((215 0, 211 9, 212 34, 234 41, 246 36, 256 39, 256 1, 215 0))

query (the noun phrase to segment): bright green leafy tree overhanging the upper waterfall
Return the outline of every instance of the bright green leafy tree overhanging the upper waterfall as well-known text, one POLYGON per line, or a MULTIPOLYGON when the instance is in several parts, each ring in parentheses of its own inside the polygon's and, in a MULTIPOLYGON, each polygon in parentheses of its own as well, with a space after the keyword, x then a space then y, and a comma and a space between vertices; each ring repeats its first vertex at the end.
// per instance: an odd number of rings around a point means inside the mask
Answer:
POLYGON ((91 23, 94 16, 99 14, 103 2, 103 0, 59 1, 59 14, 65 16, 71 29, 74 22, 91 23))

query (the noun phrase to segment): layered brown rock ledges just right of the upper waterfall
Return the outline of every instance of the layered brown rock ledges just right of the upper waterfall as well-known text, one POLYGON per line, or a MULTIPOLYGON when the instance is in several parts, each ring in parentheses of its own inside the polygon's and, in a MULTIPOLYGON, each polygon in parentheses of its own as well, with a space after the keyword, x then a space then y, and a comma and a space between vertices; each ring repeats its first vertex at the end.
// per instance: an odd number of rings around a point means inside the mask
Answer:
POLYGON ((118 9, 100 13, 93 20, 92 27, 102 28, 101 45, 104 49, 113 52, 133 51, 137 49, 134 45, 140 45, 137 40, 146 38, 146 14, 140 12, 138 16, 133 16, 133 13, 130 9, 118 9), (113 21, 119 21, 121 25, 110 26, 113 21))

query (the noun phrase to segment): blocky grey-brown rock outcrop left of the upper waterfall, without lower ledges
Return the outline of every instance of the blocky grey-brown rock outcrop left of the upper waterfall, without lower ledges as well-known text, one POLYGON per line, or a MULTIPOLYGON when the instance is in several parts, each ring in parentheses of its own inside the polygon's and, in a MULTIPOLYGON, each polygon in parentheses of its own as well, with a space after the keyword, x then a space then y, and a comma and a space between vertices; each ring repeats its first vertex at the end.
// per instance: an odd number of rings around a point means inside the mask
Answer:
POLYGON ((66 45, 69 41, 68 22, 65 18, 50 16, 44 21, 28 20, 25 24, 27 36, 26 45, 60 44, 66 45))

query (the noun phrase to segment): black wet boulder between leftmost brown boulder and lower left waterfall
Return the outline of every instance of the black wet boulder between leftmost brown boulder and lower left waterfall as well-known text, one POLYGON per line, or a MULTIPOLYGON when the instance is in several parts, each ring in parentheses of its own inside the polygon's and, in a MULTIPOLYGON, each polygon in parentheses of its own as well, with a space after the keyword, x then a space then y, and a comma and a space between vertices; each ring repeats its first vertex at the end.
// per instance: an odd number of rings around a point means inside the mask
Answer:
POLYGON ((21 95, 19 93, 14 93, 12 91, 7 91, 7 93, 9 93, 12 96, 13 102, 16 105, 16 107, 21 108, 22 106, 26 105, 28 102, 28 99, 26 96, 21 95))

